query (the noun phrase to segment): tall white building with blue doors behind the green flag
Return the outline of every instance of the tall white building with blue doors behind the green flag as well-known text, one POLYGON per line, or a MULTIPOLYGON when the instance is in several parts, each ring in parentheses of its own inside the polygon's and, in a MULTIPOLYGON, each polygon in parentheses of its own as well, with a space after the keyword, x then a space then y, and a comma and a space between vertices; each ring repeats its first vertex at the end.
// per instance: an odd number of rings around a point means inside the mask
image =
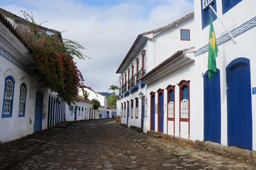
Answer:
POLYGON ((204 76, 197 87, 201 129, 193 133, 200 133, 201 141, 256 150, 255 5, 251 0, 195 1, 195 58, 204 76), (218 46, 218 74, 211 81, 206 78, 210 5, 219 18, 211 10, 218 46))

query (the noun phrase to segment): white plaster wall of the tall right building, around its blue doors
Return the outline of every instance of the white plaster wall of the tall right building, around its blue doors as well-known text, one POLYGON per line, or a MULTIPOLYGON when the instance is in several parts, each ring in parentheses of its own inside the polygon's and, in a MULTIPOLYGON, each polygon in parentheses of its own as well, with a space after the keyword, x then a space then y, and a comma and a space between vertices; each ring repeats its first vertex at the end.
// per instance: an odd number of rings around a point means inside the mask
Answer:
MULTIPOLYGON (((217 0, 217 13, 222 14, 222 3, 217 0)), ((248 20, 256 16, 256 11, 254 9, 256 1, 243 0, 236 6, 231 8, 224 15, 230 18, 221 17, 222 22, 229 29, 238 27, 239 25, 247 22, 248 20), (234 27, 232 27, 235 25, 234 27)), ((198 39, 196 40, 196 50, 208 44, 209 41, 209 25, 203 30, 201 28, 201 8, 200 0, 195 0, 195 23, 196 23, 196 34, 198 39)), ((222 36, 225 32, 225 28, 222 27, 218 19, 213 22, 214 32, 216 34, 216 39, 222 36)), ((255 38, 256 38, 256 28, 253 27, 241 35, 234 37, 237 44, 234 44, 232 40, 224 42, 224 44, 218 45, 218 57, 216 58, 217 68, 220 69, 220 87, 221 87, 221 144, 227 145, 227 101, 226 101, 226 66, 233 61, 233 59, 239 57, 245 57, 250 59, 250 71, 251 71, 251 88, 256 87, 256 79, 254 75, 256 73, 256 68, 254 63, 256 63, 254 48, 255 48, 255 38)), ((208 63, 208 52, 197 56, 196 58, 201 60, 202 73, 207 71, 208 63)), ((252 116, 253 116, 253 150, 256 150, 256 95, 251 95, 252 103, 252 116)))

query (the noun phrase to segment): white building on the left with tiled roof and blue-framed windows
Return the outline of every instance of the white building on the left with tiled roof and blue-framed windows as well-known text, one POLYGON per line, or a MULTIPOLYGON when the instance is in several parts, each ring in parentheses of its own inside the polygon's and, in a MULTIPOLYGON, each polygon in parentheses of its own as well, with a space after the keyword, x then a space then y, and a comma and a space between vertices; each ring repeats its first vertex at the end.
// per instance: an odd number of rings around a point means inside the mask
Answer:
MULTIPOLYGON (((34 63, 34 57, 16 31, 16 23, 26 21, 0 8, 0 142, 12 141, 64 121, 65 103, 57 102, 56 94, 32 75, 29 65, 34 63)), ((40 27, 40 31, 59 34, 45 27, 40 27)))

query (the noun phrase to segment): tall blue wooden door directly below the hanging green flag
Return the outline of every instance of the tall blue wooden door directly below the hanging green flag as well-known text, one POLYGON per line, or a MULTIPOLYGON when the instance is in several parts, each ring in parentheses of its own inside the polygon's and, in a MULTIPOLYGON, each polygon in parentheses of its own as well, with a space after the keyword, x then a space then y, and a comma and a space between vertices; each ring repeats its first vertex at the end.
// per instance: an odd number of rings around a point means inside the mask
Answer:
POLYGON ((221 143, 220 70, 212 80, 204 74, 204 141, 221 143))

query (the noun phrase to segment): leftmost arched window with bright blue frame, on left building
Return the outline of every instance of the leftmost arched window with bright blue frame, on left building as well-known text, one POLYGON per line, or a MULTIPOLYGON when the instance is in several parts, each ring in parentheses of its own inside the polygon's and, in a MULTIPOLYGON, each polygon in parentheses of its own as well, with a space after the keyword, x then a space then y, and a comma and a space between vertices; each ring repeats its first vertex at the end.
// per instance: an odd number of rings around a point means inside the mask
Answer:
POLYGON ((15 82, 13 77, 7 76, 5 78, 5 92, 3 93, 2 118, 13 116, 14 86, 15 86, 15 82))

